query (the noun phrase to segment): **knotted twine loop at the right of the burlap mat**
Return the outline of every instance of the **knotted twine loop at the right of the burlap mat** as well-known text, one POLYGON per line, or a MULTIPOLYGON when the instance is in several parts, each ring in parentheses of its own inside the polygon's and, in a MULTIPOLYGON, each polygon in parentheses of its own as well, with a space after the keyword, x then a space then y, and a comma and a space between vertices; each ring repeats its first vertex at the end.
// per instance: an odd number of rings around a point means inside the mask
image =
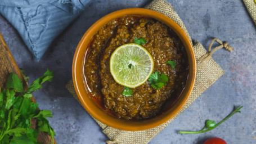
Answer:
POLYGON ((228 51, 230 51, 230 52, 232 52, 233 51, 233 48, 227 43, 227 42, 223 42, 222 43, 222 41, 221 40, 219 40, 219 39, 217 39, 217 38, 214 38, 213 40, 212 40, 212 42, 210 42, 210 45, 209 45, 209 50, 208 50, 208 53, 205 53, 205 55, 203 55, 202 57, 200 57, 200 59, 198 59, 198 62, 202 62, 202 61, 205 61, 205 60, 208 60, 212 55, 213 55, 213 53, 215 52, 215 51, 217 51, 217 50, 219 50, 219 49, 221 49, 221 48, 226 48, 226 50, 228 50, 228 51), (219 44, 221 44, 220 46, 218 46, 218 47, 215 47, 214 49, 213 49, 213 51, 211 51, 211 48, 212 48, 212 45, 213 45, 213 43, 214 42, 218 42, 219 44))

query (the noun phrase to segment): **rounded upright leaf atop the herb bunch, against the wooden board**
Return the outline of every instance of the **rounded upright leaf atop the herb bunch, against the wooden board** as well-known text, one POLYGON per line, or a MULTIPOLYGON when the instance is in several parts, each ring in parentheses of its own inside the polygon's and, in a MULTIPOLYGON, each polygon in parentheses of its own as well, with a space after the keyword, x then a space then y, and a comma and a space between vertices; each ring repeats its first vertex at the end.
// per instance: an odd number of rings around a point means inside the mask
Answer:
POLYGON ((6 82, 7 88, 13 88, 16 92, 24 92, 23 83, 21 79, 14 73, 11 73, 6 82))

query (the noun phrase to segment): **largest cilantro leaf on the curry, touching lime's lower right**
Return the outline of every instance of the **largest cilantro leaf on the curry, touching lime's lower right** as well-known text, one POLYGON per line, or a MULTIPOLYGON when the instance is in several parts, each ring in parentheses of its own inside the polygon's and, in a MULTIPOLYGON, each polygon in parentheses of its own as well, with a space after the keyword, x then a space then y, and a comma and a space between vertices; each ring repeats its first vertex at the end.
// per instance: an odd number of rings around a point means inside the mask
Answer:
POLYGON ((164 73, 159 74, 158 71, 152 73, 149 77, 149 83, 151 87, 155 89, 161 89, 163 86, 166 86, 168 82, 168 77, 164 73))

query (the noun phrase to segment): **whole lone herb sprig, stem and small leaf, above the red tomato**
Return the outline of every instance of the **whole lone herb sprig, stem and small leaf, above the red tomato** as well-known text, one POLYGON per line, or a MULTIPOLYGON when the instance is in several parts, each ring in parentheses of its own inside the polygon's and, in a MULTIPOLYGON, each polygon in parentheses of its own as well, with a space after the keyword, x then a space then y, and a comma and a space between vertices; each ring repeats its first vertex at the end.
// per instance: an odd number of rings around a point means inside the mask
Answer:
POLYGON ((213 120, 206 120, 204 128, 201 129, 200 131, 178 131, 178 133, 181 133, 181 134, 196 134, 196 133, 205 133, 205 132, 211 131, 212 129, 218 127, 225 120, 230 118, 233 114, 241 113, 240 109, 242 109, 242 107, 243 106, 239 106, 239 107, 236 106, 235 110, 230 115, 228 115, 226 118, 224 118, 223 120, 221 120, 221 122, 219 122, 217 124, 213 120))

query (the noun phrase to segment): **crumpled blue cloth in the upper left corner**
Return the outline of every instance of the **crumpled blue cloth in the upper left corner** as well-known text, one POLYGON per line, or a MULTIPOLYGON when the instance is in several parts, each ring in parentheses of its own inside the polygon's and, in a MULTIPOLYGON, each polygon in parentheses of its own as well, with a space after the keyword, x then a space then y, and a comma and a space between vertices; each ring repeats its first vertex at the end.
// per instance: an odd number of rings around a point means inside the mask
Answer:
POLYGON ((17 29, 39 61, 91 0, 0 0, 0 13, 17 29))

